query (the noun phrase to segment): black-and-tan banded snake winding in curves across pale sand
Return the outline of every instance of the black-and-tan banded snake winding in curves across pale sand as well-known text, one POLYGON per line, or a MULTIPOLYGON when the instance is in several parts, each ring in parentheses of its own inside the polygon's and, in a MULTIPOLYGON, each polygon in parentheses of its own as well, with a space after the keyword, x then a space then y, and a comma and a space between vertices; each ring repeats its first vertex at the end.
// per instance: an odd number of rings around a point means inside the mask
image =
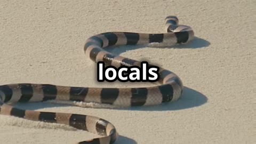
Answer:
MULTIPOLYGON (((165 18, 165 33, 145 34, 130 32, 108 32, 89 37, 84 45, 87 58, 94 62, 104 62, 106 66, 140 66, 141 61, 114 54, 106 49, 111 46, 150 45, 172 46, 185 44, 194 38, 191 27, 179 25, 179 19, 170 15, 165 18)), ((25 110, 12 106, 15 102, 42 102, 48 100, 94 102, 99 104, 134 107, 160 105, 176 101, 183 91, 181 79, 172 71, 159 67, 159 79, 156 86, 149 87, 75 87, 52 84, 17 83, 0 86, 0 114, 75 127, 100 135, 99 138, 77 143, 110 144, 119 134, 113 124, 107 120, 90 115, 53 113, 25 110)))

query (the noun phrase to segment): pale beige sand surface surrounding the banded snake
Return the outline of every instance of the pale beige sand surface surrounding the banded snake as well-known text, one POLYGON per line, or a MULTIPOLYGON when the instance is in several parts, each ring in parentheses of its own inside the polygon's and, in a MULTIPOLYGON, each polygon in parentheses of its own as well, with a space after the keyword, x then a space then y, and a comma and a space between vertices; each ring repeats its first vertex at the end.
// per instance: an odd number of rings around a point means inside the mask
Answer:
MULTIPOLYGON (((116 126, 116 143, 256 143, 255 1, 1 1, 2 84, 129 87, 96 82, 86 38, 107 31, 164 32, 177 15, 193 42, 177 49, 121 47, 115 53, 174 71, 186 86, 174 103, 95 109, 52 103, 20 108, 88 114, 116 126), (182 49, 178 49, 182 48, 182 49), (125 52, 125 53, 124 53, 125 52)), ((68 126, 0 116, 0 143, 74 143, 97 135, 68 126)))

